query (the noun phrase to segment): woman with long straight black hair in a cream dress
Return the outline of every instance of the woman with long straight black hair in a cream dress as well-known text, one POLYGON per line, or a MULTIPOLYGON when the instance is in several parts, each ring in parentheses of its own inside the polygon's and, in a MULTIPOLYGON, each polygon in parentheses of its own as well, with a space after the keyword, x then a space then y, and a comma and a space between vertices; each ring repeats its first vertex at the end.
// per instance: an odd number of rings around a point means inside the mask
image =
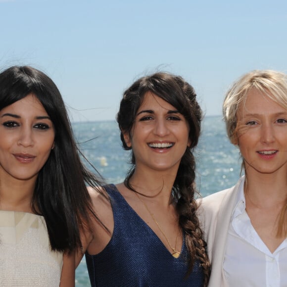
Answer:
POLYGON ((0 73, 0 286, 75 285, 74 251, 91 214, 62 97, 43 72, 0 73))

